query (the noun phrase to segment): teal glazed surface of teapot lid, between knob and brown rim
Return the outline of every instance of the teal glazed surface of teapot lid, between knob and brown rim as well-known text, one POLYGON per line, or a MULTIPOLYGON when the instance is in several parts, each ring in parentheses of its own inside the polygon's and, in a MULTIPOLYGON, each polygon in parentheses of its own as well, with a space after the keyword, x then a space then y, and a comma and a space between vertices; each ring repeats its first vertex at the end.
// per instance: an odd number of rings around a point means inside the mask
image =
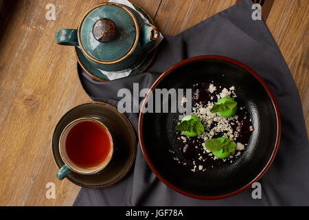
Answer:
POLYGON ((80 40, 84 50, 99 61, 116 61, 125 56, 135 41, 135 25, 130 14, 115 5, 104 5, 90 12, 82 23, 80 40), (100 43, 92 33, 95 21, 111 19, 116 26, 116 36, 108 43, 100 43))

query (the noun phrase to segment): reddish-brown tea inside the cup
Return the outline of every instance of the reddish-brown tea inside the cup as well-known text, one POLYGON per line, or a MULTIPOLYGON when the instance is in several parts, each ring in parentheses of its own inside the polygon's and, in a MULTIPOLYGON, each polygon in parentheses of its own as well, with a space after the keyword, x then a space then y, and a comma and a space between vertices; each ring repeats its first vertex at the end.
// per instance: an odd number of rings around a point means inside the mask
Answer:
POLYGON ((71 161, 80 168, 103 164, 111 153, 112 142, 108 131, 99 122, 87 120, 69 131, 65 148, 71 161))

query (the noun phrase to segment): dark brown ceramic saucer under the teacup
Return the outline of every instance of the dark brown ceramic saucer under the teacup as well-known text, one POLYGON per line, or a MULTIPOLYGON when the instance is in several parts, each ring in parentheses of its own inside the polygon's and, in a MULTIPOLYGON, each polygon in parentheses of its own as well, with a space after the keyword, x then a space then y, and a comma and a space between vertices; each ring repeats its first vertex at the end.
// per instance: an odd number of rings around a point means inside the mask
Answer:
POLYGON ((137 142, 133 126, 126 116, 120 113, 117 108, 104 102, 86 102, 69 110, 62 116, 52 137, 52 152, 58 168, 65 163, 62 161, 59 153, 59 138, 62 130, 71 121, 78 118, 95 118, 102 121, 113 133, 115 138, 115 151, 111 162, 99 173, 93 175, 81 175, 71 172, 67 179, 78 186, 86 188, 103 188, 111 186, 130 170, 136 152, 137 142))

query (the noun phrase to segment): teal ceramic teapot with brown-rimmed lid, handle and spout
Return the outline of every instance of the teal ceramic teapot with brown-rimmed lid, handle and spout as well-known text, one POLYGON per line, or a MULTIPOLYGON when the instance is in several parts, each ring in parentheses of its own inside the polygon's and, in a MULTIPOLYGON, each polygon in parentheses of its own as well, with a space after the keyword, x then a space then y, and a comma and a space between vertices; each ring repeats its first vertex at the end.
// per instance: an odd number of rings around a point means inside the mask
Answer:
POLYGON ((80 47, 87 60, 107 72, 134 69, 155 46, 159 32, 132 8, 104 2, 93 6, 76 29, 60 29, 56 43, 80 47))

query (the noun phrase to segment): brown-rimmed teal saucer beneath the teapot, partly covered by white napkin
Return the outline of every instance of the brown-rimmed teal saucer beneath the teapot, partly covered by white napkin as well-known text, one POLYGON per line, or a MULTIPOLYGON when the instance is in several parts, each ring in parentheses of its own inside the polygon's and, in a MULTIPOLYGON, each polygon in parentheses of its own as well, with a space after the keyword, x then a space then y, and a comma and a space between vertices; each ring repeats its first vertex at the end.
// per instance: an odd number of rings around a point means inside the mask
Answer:
MULTIPOLYGON (((139 12, 141 12, 141 14, 144 15, 144 17, 146 17, 146 19, 148 19, 149 23, 151 23, 152 25, 154 24, 154 21, 152 20, 152 18, 150 17, 149 14, 147 14, 146 10, 144 10, 144 8, 141 8, 141 6, 132 3, 135 7, 135 9, 139 12)), ((95 80, 98 81, 108 81, 108 77, 103 74, 97 67, 95 67, 94 65, 92 65, 87 58, 84 56, 84 54, 82 54, 82 50, 80 50, 79 47, 74 47, 75 48, 75 53, 76 53, 76 57, 78 58, 78 65, 80 65, 82 67, 82 69, 84 69, 84 72, 86 72, 89 76, 91 76, 92 78, 94 78, 95 80)), ((150 67, 152 61, 155 58, 155 55, 157 54, 157 48, 155 50, 152 50, 151 52, 149 52, 146 55, 146 58, 144 60, 143 63, 141 63, 141 65, 139 65, 139 67, 137 67, 136 69, 133 69, 133 71, 130 73, 129 76, 133 76, 142 72, 145 72, 146 69, 148 69, 148 67, 150 67)))

